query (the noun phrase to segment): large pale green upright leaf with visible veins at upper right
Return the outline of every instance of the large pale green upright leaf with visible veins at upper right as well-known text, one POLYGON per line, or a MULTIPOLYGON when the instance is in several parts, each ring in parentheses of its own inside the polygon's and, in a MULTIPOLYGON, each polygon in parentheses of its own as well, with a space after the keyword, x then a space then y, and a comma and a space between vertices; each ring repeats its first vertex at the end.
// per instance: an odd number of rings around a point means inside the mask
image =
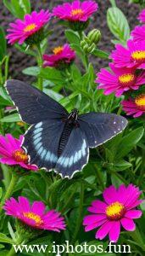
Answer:
POLYGON ((130 27, 125 15, 117 7, 108 9, 107 22, 109 30, 114 34, 114 37, 120 42, 126 42, 130 38, 130 27))

